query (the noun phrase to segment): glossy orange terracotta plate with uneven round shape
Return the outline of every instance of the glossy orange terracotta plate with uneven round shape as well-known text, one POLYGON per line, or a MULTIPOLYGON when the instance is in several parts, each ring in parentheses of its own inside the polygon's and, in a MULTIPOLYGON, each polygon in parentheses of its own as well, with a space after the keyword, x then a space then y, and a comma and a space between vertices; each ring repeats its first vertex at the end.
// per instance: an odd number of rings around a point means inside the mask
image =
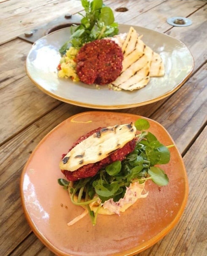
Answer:
MULTIPOLYGON (((61 154, 92 129, 138 118, 140 116, 127 113, 77 114, 49 132, 31 154, 21 176, 22 205, 36 236, 56 255, 133 255, 158 242, 180 219, 188 197, 188 180, 175 146, 170 149, 169 164, 162 166, 169 176, 167 186, 159 189, 148 181, 147 198, 139 199, 120 216, 98 215, 96 226, 85 216, 73 226, 67 226, 83 209, 71 204, 68 191, 57 183, 58 178, 63 178, 58 166, 61 154)), ((174 143, 160 124, 148 121, 150 131, 161 143, 166 146, 174 143)))

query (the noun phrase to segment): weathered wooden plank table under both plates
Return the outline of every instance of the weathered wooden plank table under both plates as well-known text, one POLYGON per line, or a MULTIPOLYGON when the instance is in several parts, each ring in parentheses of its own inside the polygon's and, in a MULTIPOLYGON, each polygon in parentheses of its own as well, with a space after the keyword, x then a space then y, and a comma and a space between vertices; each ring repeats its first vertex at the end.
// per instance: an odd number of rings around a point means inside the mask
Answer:
MULTIPOLYGON (((191 77, 173 95, 158 102, 117 112, 139 114, 162 124, 185 162, 188 203, 177 226, 139 256, 207 255, 207 1, 106 0, 122 24, 138 25, 180 39, 191 50, 191 77), (128 11, 117 12, 125 7, 128 11), (182 16, 192 25, 175 27, 166 19, 182 16)), ((32 46, 18 36, 81 11, 79 0, 0 1, 0 255, 53 255, 35 237, 23 214, 19 179, 35 146, 57 124, 90 109, 60 102, 40 91, 27 77, 25 59, 32 46)))

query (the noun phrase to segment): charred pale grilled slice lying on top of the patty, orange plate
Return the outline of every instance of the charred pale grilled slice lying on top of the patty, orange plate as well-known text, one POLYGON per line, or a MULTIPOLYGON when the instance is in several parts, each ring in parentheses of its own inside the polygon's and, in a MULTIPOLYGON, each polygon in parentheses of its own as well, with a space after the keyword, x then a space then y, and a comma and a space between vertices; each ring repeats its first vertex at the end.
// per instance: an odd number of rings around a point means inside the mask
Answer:
POLYGON ((133 123, 105 127, 71 149, 60 162, 60 169, 76 171, 83 165, 99 162, 114 150, 123 148, 135 134, 133 123))

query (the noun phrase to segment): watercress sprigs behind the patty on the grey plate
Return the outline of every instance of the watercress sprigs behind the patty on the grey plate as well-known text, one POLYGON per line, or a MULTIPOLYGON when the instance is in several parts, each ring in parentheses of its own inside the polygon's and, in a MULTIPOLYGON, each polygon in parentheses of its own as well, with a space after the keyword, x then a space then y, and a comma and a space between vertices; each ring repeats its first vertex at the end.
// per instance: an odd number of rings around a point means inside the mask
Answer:
POLYGON ((81 0, 85 15, 82 16, 80 25, 71 26, 71 37, 61 48, 64 54, 69 46, 81 47, 87 42, 104 37, 117 35, 118 24, 114 22, 114 14, 110 7, 103 5, 103 0, 81 0))

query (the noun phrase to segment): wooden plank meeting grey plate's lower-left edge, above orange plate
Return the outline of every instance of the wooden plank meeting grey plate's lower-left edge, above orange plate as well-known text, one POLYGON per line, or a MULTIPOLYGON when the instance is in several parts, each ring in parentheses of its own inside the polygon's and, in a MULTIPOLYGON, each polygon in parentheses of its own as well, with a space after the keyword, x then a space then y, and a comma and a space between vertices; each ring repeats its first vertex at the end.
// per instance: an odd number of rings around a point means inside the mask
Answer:
POLYGON ((0 143, 61 104, 41 92, 27 76, 2 88, 0 102, 5 109, 0 116, 0 143))

